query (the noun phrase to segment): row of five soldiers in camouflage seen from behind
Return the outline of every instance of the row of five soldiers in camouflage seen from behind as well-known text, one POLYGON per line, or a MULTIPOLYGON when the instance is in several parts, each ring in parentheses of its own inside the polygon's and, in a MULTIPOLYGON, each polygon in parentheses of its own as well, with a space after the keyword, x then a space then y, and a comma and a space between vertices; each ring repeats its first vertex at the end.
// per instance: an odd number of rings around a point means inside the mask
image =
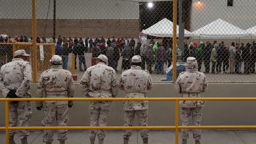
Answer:
MULTIPOLYGON (((25 50, 18 50, 13 53, 14 59, 1 67, 0 70, 0 91, 5 98, 31 98, 31 66, 29 54, 25 50)), ((85 97, 89 98, 115 98, 118 87, 124 90, 126 98, 147 98, 147 91, 153 88, 153 80, 149 71, 143 70, 142 58, 134 55, 131 59, 130 69, 124 70, 119 78, 116 78, 116 71, 107 66, 108 58, 100 54, 95 65, 86 69, 81 82, 80 89, 85 97), (138 81, 140 79, 140 81, 138 81)), ((70 71, 62 68, 62 58, 53 55, 51 68, 44 71, 38 82, 37 91, 41 98, 73 98, 74 81, 70 71)), ((186 72, 179 75, 175 87, 182 97, 201 97, 201 92, 207 89, 205 75, 197 69, 195 58, 187 58, 186 72), (189 89, 188 89, 189 87, 189 89)), ((42 125, 52 126, 56 121, 57 126, 67 126, 69 122, 68 108, 73 107, 73 101, 37 101, 36 109, 44 112, 42 125)), ((188 119, 193 114, 193 124, 200 125, 202 119, 201 107, 204 101, 180 101, 182 125, 188 125, 188 119)), ((107 126, 107 119, 110 113, 111 101, 91 101, 89 106, 90 126, 107 126)), ((148 101, 124 101, 124 126, 132 126, 135 114, 140 126, 148 125, 148 101)), ((9 103, 9 126, 28 126, 32 115, 30 101, 10 101, 9 103)), ((14 134, 10 130, 10 144, 15 144, 14 134)), ((19 138, 22 144, 28 144, 29 131, 19 130, 19 138)), ((90 130, 90 143, 94 144, 98 134, 99 144, 103 144, 106 137, 106 130, 90 130)), ((140 131, 143 144, 148 144, 148 130, 140 131)), ((123 130, 124 144, 129 143, 131 130, 123 130)), ((200 144, 201 130, 193 132, 195 143, 200 144)), ((188 131, 182 130, 182 144, 187 143, 188 131)), ((64 144, 67 140, 67 130, 58 130, 58 141, 64 144)), ((51 144, 53 131, 45 130, 43 142, 51 144)))

